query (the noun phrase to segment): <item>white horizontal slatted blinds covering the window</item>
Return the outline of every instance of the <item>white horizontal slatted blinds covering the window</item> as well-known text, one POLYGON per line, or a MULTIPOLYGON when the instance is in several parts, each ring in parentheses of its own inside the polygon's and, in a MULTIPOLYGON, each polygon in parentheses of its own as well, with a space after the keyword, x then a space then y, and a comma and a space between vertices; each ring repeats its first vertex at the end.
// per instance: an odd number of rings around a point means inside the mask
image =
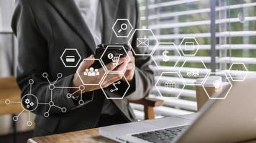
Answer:
MULTIPOLYGON (((139 3, 142 28, 152 29, 160 43, 152 56, 154 62, 151 68, 155 71, 155 81, 163 71, 180 71, 180 74, 186 74, 193 69, 204 74, 205 69, 200 66, 201 61, 206 65, 206 69, 211 71, 210 0, 140 0, 139 3), (196 56, 183 56, 180 49, 175 49, 184 37, 194 37, 198 42, 200 48, 196 56), (173 43, 175 46, 166 46, 166 43, 173 43), (165 49, 171 53, 168 62, 163 62, 165 49), (184 61, 186 64, 183 65, 184 61)), ((250 74, 256 75, 256 2, 216 0, 215 15, 216 71, 228 74, 232 63, 243 63, 250 74), (241 11, 243 21, 239 17, 241 11)), ((164 83, 166 79, 172 79, 178 84, 175 91, 182 90, 178 77, 164 77, 159 82, 164 83)), ((196 81, 195 78, 183 79, 186 83, 196 81)), ((163 84, 157 88, 162 94, 170 94, 163 84)), ((150 97, 163 99, 156 87, 152 89, 150 97)), ((197 110, 195 86, 186 86, 178 99, 164 100, 162 107, 155 108, 156 117, 189 114, 197 110)), ((132 107, 137 118, 143 119, 142 106, 132 104, 132 107)))

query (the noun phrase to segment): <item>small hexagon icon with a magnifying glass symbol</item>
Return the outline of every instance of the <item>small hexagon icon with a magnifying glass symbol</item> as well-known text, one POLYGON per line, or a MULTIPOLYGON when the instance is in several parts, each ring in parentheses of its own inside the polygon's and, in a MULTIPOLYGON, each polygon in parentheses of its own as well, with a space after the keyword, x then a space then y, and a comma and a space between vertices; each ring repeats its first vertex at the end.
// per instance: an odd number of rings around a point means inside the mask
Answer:
POLYGON ((129 19, 116 19, 116 22, 112 26, 112 30, 116 37, 127 38, 132 32, 132 24, 129 22, 129 19))

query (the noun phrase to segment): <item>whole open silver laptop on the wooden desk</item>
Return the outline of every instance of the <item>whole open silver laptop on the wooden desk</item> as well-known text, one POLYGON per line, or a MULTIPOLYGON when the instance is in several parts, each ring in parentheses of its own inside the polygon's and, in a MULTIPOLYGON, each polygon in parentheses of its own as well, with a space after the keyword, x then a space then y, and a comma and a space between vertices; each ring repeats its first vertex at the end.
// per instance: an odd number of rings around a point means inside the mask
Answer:
MULTIPOLYGON (((224 97, 227 89, 215 97, 224 97)), ((226 99, 209 99, 196 114, 101 127, 116 142, 242 142, 256 138, 256 79, 233 83, 226 99)))

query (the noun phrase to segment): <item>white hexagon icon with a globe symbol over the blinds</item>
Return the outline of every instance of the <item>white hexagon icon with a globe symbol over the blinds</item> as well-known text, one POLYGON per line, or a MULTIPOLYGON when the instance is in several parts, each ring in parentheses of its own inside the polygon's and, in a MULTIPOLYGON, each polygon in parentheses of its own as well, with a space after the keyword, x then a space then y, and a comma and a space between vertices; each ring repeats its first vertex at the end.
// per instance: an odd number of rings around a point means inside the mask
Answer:
POLYGON ((178 99, 185 84, 178 72, 162 72, 155 83, 155 87, 161 97, 178 99))

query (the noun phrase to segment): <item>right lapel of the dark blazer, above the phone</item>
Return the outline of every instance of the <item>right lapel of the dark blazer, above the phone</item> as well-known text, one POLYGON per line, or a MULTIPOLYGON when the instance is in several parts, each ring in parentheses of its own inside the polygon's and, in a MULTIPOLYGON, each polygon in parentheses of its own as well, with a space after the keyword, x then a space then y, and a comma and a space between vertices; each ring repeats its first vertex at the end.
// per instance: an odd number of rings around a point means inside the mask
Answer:
POLYGON ((112 26, 116 21, 116 14, 119 8, 119 0, 101 0, 103 14, 103 43, 111 44, 111 37, 114 35, 112 26))

